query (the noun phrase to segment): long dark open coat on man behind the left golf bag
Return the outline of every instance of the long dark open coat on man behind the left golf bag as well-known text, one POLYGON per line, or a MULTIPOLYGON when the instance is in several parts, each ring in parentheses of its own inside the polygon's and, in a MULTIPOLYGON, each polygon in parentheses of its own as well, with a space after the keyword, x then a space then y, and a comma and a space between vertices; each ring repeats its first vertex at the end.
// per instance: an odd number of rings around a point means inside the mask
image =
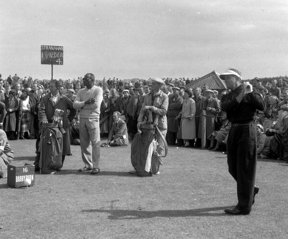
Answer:
POLYGON ((53 122, 52 117, 54 116, 55 109, 62 109, 64 110, 63 115, 63 129, 66 131, 66 133, 63 134, 63 155, 70 154, 70 137, 69 137, 69 131, 68 131, 68 120, 71 122, 76 113, 77 110, 73 108, 72 101, 67 97, 64 96, 59 92, 59 99, 56 105, 54 105, 54 102, 51 99, 51 93, 48 93, 45 95, 40 103, 39 111, 38 111, 38 119, 41 123, 42 121, 48 121, 53 122), (67 109, 70 111, 68 115, 67 120, 67 109))

